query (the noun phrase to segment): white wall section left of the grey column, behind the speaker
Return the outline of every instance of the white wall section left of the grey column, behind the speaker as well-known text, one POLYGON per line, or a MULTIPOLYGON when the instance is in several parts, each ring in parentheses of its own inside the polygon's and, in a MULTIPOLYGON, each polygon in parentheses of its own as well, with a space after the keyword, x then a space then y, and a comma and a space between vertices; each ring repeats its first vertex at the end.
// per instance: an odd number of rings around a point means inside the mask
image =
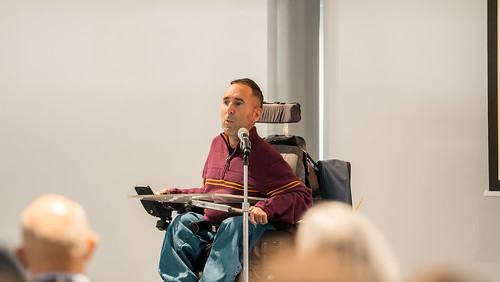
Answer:
POLYGON ((0 1, 0 243, 37 196, 83 204, 94 281, 158 281, 136 184, 199 187, 228 83, 266 89, 266 1, 0 1))

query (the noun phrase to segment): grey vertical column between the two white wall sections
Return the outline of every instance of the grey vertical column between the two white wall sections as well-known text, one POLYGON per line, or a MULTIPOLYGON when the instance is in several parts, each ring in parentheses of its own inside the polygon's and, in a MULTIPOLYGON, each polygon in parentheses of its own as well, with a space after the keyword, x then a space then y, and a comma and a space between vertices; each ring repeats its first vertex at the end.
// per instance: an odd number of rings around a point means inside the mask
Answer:
MULTIPOLYGON (((319 147, 319 0, 267 1, 268 101, 297 102, 299 123, 290 134, 306 140, 307 152, 318 159, 319 147)), ((269 127, 283 132, 283 125, 269 127)))

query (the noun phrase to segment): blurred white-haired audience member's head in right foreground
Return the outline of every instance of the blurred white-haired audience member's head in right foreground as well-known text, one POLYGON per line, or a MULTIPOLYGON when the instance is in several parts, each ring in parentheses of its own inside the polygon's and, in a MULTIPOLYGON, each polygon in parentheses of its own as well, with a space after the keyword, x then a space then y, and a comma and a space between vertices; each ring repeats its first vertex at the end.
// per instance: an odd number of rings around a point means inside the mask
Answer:
POLYGON ((328 281, 400 279, 398 264, 379 229, 340 202, 322 203, 305 213, 297 231, 296 253, 303 261, 328 259, 323 265, 332 276, 334 269, 344 272, 343 279, 328 281))

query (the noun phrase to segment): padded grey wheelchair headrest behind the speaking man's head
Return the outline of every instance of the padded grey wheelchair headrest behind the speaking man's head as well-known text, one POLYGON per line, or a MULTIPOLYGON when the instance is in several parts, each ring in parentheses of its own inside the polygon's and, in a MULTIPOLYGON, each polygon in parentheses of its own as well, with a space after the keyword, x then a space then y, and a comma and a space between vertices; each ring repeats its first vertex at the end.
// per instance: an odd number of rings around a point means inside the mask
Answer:
POLYGON ((300 121, 299 103, 268 103, 262 105, 260 123, 296 123, 300 121))

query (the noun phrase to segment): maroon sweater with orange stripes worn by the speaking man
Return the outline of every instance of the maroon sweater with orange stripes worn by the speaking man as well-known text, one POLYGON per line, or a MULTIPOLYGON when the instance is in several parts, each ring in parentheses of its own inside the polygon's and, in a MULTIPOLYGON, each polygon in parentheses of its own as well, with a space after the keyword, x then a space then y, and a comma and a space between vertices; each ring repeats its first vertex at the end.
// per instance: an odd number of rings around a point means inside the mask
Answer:
MULTIPOLYGON (((311 189, 299 181, 281 155, 257 134, 255 127, 250 130, 250 141, 252 153, 248 158, 248 196, 269 198, 255 206, 263 209, 278 229, 294 232, 295 223, 312 205, 311 189)), ((170 192, 243 195, 243 155, 239 145, 231 155, 229 148, 225 133, 215 137, 203 168, 203 187, 173 188, 170 192)), ((241 208, 241 204, 234 206, 241 208)), ((220 224, 235 215, 205 209, 204 219, 220 224)))

